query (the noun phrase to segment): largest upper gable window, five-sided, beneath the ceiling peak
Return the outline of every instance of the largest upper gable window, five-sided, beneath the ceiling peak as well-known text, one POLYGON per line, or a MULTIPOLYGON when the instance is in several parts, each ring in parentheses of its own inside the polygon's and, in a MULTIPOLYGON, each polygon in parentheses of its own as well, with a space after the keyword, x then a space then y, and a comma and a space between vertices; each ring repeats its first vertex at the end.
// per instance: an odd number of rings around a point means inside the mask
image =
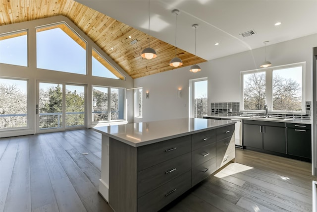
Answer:
POLYGON ((37 28, 37 68, 86 74, 86 42, 65 23, 37 28))

